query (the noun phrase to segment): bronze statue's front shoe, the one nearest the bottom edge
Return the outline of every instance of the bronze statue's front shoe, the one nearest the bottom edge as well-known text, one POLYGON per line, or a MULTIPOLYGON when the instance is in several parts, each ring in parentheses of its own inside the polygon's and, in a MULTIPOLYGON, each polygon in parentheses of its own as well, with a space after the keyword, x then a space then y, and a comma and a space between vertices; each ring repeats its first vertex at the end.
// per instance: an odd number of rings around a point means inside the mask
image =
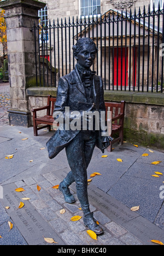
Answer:
POLYGON ((84 224, 97 235, 103 234, 103 229, 96 223, 96 220, 93 218, 93 213, 89 213, 83 217, 84 224))

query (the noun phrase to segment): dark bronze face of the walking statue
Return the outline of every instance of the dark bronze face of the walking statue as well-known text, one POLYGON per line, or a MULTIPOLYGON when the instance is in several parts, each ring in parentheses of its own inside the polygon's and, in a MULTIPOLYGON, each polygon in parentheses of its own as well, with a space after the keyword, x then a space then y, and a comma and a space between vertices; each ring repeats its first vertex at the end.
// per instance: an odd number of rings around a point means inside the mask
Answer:
POLYGON ((79 64, 82 67, 89 69, 93 64, 95 57, 96 57, 95 45, 84 43, 79 53, 77 54, 76 59, 78 60, 79 64))

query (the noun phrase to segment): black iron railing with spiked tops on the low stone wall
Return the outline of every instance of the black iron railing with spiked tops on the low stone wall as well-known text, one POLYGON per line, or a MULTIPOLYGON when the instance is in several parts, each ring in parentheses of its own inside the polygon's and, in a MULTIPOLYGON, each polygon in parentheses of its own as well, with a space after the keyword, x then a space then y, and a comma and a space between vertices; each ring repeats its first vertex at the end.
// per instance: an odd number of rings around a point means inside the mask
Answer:
MULTIPOLYGON (((163 6, 164 7, 164 6, 163 6)), ((105 90, 163 92, 164 8, 132 14, 109 10, 104 15, 57 19, 33 27, 36 38, 37 86, 57 86, 75 66, 72 46, 92 38, 98 50, 93 69, 105 90), (39 40, 37 40, 39 38, 39 40)))

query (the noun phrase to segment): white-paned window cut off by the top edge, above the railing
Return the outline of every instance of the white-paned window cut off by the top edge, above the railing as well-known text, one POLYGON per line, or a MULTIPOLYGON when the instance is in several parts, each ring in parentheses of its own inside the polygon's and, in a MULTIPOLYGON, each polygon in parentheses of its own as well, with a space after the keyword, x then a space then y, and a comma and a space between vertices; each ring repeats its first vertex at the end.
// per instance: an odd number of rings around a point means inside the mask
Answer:
POLYGON ((101 0, 80 0, 80 16, 92 16, 101 14, 101 0))

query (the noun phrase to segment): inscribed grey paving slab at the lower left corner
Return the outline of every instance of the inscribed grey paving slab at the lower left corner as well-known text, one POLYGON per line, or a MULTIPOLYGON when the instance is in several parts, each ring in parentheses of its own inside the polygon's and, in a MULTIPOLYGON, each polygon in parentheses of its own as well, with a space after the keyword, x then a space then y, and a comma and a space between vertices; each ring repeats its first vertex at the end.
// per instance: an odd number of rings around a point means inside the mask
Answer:
MULTIPOLYGON (((17 237, 17 234, 14 236, 16 226, 28 245, 45 245, 44 237, 53 237, 54 240, 58 242, 58 245, 65 245, 51 226, 46 223, 35 208, 31 206, 30 202, 26 201, 23 208, 18 208, 20 201, 22 201, 21 198, 23 195, 22 193, 16 192, 16 188, 17 187, 14 183, 4 185, 4 197, 3 200, 1 200, 4 207, 10 207, 8 209, 8 214, 11 216, 11 222, 14 226, 14 229, 10 230, 10 235, 13 236, 13 239, 14 237, 17 237)), ((9 228, 7 228, 5 225, 5 230, 3 230, 3 232, 7 234, 9 233, 8 230, 9 228)), ((7 241, 0 240, 0 244, 5 244, 7 241)), ((15 242, 15 244, 21 245, 21 242, 15 242)), ((25 243, 22 244, 24 245, 25 243)))

